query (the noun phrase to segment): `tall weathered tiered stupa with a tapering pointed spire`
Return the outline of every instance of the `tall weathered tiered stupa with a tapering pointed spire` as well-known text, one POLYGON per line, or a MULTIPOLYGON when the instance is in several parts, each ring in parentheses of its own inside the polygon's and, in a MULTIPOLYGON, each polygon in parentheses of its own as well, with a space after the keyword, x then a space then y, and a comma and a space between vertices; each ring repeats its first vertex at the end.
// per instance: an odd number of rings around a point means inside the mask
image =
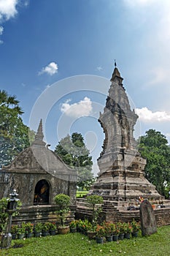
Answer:
POLYGON ((103 151, 98 158, 100 172, 89 194, 101 195, 104 200, 116 202, 136 198, 159 199, 155 186, 144 178, 146 159, 136 149, 134 125, 138 116, 131 110, 123 87, 123 78, 116 67, 104 113, 98 121, 104 129, 103 151))

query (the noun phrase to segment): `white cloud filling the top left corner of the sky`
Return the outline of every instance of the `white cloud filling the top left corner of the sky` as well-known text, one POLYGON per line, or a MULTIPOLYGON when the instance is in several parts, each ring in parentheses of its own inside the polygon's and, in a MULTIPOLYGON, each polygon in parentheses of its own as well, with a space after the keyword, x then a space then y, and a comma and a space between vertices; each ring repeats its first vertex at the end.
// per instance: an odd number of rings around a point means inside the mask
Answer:
POLYGON ((17 14, 19 0, 0 0, 0 20, 9 20, 17 14))

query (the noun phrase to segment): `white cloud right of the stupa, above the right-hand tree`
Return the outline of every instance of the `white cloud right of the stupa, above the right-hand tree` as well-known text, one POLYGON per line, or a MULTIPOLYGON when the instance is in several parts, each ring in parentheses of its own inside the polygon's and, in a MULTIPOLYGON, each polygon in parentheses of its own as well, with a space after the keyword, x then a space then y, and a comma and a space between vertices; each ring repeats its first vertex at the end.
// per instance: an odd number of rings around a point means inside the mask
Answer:
POLYGON ((144 123, 155 122, 155 121, 170 121, 170 113, 166 111, 156 111, 152 112, 148 108, 136 108, 136 114, 139 116, 140 120, 144 123))

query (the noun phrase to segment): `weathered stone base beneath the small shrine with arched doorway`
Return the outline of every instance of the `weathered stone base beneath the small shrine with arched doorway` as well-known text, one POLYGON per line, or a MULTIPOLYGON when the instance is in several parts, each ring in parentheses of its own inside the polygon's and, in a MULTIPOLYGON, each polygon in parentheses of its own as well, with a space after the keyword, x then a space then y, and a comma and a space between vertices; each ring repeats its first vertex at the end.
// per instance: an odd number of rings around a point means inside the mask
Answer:
MULTIPOLYGON (((20 209, 20 214, 12 217, 12 224, 21 222, 58 222, 55 211, 57 206, 28 206, 20 209)), ((76 206, 70 206, 69 216, 66 218, 66 224, 75 218, 76 206)), ((59 222, 58 222, 59 224, 59 222)))

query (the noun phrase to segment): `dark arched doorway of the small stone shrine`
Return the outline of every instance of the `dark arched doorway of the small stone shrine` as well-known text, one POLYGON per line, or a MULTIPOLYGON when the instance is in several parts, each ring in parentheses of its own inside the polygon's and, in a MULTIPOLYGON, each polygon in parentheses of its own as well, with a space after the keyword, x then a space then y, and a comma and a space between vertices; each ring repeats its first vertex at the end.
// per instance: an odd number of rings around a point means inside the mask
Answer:
POLYGON ((49 204, 50 185, 48 181, 42 179, 36 183, 34 191, 34 205, 49 204))

